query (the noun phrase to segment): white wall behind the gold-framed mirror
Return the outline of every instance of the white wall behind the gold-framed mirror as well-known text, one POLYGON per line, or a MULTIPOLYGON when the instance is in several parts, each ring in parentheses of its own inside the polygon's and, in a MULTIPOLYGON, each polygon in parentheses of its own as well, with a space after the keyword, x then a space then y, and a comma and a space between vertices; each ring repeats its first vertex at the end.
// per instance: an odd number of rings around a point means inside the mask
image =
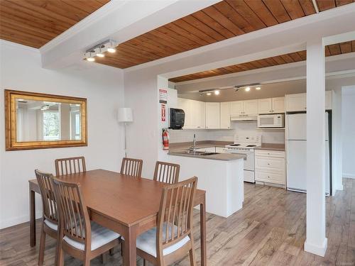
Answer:
MULTIPOLYGON (((45 70, 38 50, 0 43, 0 228, 29 220, 28 180, 36 168, 55 172, 59 157, 84 155, 87 169, 118 171, 123 155, 116 111, 124 104, 123 72, 99 64, 45 70), (87 98, 88 146, 5 151, 4 89, 87 98)), ((41 216, 39 197, 36 200, 41 216)))

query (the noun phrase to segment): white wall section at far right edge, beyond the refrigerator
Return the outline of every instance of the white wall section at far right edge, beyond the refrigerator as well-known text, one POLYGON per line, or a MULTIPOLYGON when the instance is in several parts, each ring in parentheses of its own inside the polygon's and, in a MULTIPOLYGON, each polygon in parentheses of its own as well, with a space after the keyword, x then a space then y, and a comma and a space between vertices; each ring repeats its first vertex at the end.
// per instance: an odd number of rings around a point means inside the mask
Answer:
POLYGON ((355 178, 355 86, 342 88, 343 177, 355 178))

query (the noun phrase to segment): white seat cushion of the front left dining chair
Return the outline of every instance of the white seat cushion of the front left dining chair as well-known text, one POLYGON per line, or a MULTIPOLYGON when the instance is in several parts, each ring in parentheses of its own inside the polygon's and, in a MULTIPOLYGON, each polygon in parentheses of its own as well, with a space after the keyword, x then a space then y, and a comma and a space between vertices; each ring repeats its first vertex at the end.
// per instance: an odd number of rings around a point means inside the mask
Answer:
MULTIPOLYGON (((91 250, 96 250, 97 248, 100 248, 103 245, 106 245, 107 243, 119 237, 120 235, 118 233, 115 233, 114 231, 111 231, 105 228, 104 226, 100 226, 99 224, 94 223, 93 221, 91 222, 91 250)), ((72 247, 77 248, 78 250, 85 249, 84 243, 72 240, 67 236, 65 236, 63 240, 65 240, 65 242, 67 242, 72 247)))

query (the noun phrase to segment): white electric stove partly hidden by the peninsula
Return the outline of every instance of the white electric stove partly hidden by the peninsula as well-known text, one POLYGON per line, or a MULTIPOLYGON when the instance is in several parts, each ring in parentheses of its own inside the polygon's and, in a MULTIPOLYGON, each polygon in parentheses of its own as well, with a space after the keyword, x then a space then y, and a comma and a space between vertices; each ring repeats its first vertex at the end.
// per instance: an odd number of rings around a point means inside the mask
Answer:
POLYGON ((244 181, 255 183, 254 148, 261 145, 262 135, 234 135, 234 144, 226 145, 227 153, 245 154, 244 181))

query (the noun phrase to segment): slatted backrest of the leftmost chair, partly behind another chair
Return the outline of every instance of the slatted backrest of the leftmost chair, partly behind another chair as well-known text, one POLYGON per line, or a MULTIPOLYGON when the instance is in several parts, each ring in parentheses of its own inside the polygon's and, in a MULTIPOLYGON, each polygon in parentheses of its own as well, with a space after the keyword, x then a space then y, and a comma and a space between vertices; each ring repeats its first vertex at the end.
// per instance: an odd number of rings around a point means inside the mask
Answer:
POLYGON ((53 174, 35 170, 35 177, 40 187, 40 195, 42 196, 43 217, 52 223, 58 224, 57 203, 55 201, 52 183, 50 182, 50 179, 53 178, 53 174))

